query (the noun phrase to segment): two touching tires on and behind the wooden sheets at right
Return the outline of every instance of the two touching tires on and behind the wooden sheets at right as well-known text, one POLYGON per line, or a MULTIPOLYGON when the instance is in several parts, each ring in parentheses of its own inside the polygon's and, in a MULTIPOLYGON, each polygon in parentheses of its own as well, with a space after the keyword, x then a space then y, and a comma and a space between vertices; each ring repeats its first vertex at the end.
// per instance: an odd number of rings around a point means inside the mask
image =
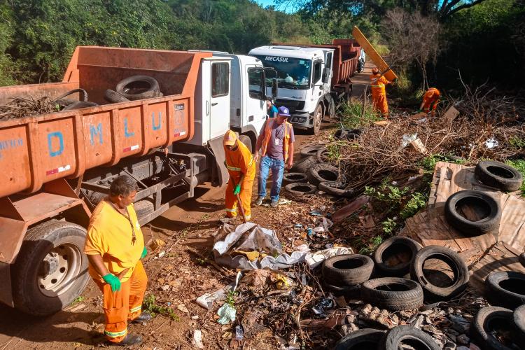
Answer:
MULTIPOLYGON (((484 186, 502 192, 518 190, 523 177, 513 167, 501 162, 483 161, 474 169, 475 179, 484 186)), ((467 237, 475 237, 499 231, 501 207, 499 200, 480 190, 461 190, 451 195, 444 207, 444 216, 449 225, 467 237), (477 214, 465 218, 462 208, 469 205, 477 214)))

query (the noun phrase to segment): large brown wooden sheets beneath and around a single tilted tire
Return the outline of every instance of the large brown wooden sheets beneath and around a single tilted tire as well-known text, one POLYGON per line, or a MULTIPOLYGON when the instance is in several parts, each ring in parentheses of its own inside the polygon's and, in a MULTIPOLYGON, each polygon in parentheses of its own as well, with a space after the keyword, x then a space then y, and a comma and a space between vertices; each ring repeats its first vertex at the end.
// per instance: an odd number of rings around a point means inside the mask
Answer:
POLYGON ((484 253, 498 241, 524 251, 525 201, 515 194, 500 193, 479 183, 474 177, 473 167, 437 162, 427 209, 408 218, 401 234, 416 239, 423 246, 447 246, 458 253, 468 252, 472 256, 484 253), (447 198, 460 190, 470 189, 482 190, 500 201, 502 216, 499 232, 465 237, 447 223, 444 218, 447 198))

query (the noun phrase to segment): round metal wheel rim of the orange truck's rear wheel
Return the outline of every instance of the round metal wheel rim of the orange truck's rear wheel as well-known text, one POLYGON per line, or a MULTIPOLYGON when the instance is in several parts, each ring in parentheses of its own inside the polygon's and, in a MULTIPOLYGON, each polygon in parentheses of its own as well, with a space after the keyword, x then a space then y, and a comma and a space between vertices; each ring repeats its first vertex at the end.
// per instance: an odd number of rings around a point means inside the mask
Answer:
POLYGON ((38 266, 38 289, 48 297, 66 293, 73 286, 81 265, 82 253, 74 244, 64 243, 50 249, 38 266))

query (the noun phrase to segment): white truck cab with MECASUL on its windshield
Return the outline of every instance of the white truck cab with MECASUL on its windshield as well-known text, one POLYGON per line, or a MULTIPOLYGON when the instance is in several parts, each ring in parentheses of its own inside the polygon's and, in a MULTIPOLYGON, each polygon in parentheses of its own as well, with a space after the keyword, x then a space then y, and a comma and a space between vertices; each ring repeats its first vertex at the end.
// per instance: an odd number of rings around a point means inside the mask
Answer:
POLYGON ((272 68, 279 84, 276 106, 290 109, 290 123, 317 134, 323 116, 333 110, 330 78, 333 49, 270 45, 254 48, 249 55, 272 68))

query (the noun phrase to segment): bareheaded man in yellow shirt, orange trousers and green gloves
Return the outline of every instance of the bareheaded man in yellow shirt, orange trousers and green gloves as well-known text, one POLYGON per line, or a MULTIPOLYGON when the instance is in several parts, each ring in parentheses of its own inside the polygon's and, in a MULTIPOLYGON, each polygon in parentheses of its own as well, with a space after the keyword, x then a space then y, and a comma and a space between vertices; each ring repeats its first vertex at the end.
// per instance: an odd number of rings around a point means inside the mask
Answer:
POLYGON ((104 334, 122 346, 142 342, 140 335, 127 333, 127 322, 151 320, 151 314, 141 312, 148 284, 141 259, 148 251, 132 204, 137 189, 130 176, 113 180, 109 197, 91 215, 84 247, 90 275, 104 293, 104 334))

